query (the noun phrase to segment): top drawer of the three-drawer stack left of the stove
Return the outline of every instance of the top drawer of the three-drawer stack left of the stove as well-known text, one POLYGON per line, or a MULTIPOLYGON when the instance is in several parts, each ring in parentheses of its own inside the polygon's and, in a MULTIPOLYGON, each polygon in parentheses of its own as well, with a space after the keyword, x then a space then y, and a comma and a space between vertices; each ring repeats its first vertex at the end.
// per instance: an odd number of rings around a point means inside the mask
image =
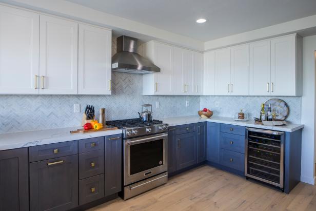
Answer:
POLYGON ((104 137, 82 139, 78 141, 79 153, 104 149, 104 137))

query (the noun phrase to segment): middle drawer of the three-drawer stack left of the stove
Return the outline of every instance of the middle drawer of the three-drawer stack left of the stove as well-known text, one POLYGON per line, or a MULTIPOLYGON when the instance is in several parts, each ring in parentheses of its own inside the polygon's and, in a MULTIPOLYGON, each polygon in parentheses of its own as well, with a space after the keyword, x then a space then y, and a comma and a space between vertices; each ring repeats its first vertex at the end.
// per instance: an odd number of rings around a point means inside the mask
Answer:
POLYGON ((79 179, 104 174, 104 150, 79 154, 79 179))

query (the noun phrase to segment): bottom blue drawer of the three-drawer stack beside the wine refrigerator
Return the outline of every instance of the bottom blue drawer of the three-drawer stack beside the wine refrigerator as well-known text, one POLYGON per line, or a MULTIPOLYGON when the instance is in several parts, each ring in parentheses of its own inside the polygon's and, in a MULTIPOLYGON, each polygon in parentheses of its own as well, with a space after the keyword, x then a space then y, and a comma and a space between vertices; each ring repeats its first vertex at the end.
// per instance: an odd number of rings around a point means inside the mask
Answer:
POLYGON ((220 149, 220 164, 236 170, 245 170, 245 155, 239 152, 220 149))

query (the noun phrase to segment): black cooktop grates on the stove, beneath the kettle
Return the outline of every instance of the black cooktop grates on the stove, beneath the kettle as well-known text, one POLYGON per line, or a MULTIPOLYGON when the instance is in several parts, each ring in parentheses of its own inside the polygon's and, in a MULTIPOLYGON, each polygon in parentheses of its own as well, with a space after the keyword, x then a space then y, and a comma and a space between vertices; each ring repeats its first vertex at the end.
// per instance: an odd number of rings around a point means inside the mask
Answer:
POLYGON ((152 120, 152 121, 145 122, 139 118, 136 118, 136 119, 127 119, 127 120, 107 121, 106 125, 122 128, 122 127, 144 127, 144 126, 150 126, 150 125, 157 125, 161 123, 163 123, 163 121, 152 120))

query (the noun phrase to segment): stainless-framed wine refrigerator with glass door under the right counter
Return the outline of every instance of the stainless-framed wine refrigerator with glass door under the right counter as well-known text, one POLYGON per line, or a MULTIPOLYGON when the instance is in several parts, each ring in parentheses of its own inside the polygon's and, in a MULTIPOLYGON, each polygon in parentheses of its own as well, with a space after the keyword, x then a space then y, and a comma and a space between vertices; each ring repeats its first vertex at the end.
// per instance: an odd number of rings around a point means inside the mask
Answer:
POLYGON ((284 190, 284 132, 246 128, 245 176, 284 190))

